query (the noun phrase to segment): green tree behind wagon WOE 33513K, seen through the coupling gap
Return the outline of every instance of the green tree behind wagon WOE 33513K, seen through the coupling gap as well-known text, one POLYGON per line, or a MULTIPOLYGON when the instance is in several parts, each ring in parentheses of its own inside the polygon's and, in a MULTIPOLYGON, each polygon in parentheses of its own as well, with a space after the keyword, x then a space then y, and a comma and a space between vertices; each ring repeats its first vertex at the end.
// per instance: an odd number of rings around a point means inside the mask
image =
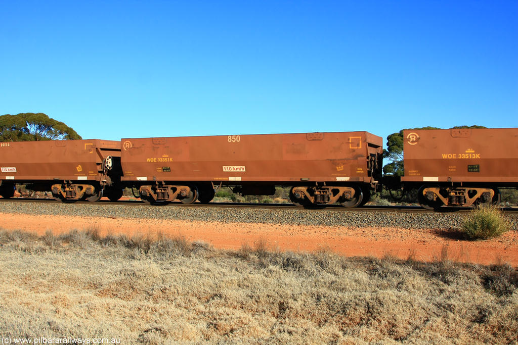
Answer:
MULTIPOLYGON (((484 126, 455 126, 450 129, 458 128, 486 128, 484 126)), ((421 128, 408 128, 410 130, 418 129, 441 129, 437 127, 421 127, 421 128)), ((392 176, 403 176, 405 169, 403 166, 403 131, 401 129, 397 133, 392 133, 387 137, 387 148, 383 150, 383 158, 388 159, 390 162, 383 167, 383 173, 392 176)))

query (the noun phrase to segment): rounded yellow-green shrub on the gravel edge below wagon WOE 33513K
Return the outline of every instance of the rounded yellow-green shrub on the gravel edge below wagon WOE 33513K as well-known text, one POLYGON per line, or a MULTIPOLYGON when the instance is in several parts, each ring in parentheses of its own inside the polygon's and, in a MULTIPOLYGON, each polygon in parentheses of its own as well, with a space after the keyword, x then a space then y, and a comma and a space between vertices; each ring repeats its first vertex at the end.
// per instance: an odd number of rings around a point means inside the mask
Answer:
POLYGON ((468 239, 487 239, 509 231, 509 224, 498 207, 481 205, 464 219, 461 231, 468 239))

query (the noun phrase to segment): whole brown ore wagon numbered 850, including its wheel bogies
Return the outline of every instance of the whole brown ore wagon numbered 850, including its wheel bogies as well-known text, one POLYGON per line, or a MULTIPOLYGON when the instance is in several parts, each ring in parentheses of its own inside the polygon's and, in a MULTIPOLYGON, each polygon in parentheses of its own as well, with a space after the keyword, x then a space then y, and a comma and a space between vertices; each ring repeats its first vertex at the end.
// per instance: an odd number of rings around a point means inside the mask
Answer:
POLYGON ((382 138, 365 131, 122 139, 122 183, 150 203, 206 203, 215 186, 243 195, 291 187, 297 205, 368 201, 382 174, 382 138))

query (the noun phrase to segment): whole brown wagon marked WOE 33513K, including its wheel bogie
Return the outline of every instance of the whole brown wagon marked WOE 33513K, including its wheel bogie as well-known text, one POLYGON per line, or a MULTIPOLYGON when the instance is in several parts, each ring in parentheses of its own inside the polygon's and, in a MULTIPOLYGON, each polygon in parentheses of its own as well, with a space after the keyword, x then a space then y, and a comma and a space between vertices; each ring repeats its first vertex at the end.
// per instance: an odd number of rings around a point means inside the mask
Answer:
POLYGON ((404 131, 405 176, 425 208, 500 202, 518 187, 518 128, 404 131))

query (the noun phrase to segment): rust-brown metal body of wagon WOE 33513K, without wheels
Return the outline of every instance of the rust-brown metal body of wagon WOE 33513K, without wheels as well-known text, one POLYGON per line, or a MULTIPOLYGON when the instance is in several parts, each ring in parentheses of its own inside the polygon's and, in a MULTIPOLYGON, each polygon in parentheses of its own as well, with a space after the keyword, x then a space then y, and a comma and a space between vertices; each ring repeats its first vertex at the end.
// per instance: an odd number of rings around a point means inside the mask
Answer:
POLYGON ((405 130, 401 181, 518 183, 518 128, 405 130))

